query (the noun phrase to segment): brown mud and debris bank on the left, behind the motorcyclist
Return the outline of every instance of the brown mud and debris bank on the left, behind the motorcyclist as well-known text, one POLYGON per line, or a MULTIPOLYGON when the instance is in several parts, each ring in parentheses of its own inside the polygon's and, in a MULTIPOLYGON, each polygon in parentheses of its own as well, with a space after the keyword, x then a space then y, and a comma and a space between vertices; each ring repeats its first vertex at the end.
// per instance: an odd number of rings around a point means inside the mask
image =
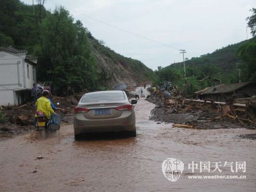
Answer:
MULTIPOLYGON (((52 96, 53 104, 59 108, 56 113, 61 114, 63 123, 73 122, 74 107, 87 92, 88 90, 84 89, 81 93, 73 96, 52 96)), ((27 102, 20 106, 0 106, 0 137, 17 135, 33 129, 35 110, 33 102, 27 102)))

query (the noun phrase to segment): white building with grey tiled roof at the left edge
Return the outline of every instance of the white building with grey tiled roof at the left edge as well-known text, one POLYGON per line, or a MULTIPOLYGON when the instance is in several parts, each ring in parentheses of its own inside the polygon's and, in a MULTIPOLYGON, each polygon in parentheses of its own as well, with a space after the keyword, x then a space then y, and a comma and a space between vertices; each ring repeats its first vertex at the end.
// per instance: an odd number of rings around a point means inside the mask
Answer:
POLYGON ((0 47, 0 105, 20 105, 30 99, 36 63, 25 50, 0 47))

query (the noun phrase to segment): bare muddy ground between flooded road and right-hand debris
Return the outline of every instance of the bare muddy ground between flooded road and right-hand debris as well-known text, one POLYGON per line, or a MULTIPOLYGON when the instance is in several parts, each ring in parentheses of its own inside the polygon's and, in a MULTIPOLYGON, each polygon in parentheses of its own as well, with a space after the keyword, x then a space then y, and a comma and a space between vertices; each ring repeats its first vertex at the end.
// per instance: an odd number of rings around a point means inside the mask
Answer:
POLYGON ((255 129, 252 124, 241 124, 237 120, 230 119, 228 116, 223 116, 220 119, 213 119, 221 116, 221 110, 212 110, 210 104, 194 104, 189 107, 178 108, 177 111, 170 114, 169 107, 165 107, 159 95, 151 95, 147 97, 147 101, 154 103, 156 106, 151 111, 150 120, 165 122, 165 123, 187 123, 195 126, 198 129, 229 129, 229 128, 248 128, 255 129))

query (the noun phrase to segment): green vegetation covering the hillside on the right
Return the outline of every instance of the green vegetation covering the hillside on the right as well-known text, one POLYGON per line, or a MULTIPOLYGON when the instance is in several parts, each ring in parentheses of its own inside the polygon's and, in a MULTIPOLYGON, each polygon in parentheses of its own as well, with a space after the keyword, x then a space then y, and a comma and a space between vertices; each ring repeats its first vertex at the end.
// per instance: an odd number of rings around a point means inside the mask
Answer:
POLYGON ((158 77, 155 84, 160 81, 171 81, 173 85, 184 89, 186 95, 192 95, 205 87, 239 82, 238 69, 241 70, 242 82, 256 82, 256 9, 252 9, 252 12, 253 15, 247 20, 253 38, 185 61, 187 82, 183 63, 175 63, 175 66, 171 64, 165 68, 159 66, 155 71, 158 77))

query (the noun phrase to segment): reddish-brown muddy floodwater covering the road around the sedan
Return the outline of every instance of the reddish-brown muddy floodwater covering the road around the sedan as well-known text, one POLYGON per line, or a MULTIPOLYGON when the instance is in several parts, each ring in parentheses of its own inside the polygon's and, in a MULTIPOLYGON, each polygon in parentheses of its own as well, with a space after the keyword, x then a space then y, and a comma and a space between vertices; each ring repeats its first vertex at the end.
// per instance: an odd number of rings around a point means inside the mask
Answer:
MULTIPOLYGON (((140 88, 137 92, 140 94, 140 88)), ((172 128, 171 124, 149 121, 153 108, 144 98, 138 101, 135 138, 76 141, 72 124, 62 125, 57 135, 44 140, 36 139, 33 132, 2 138, 0 191, 255 191, 256 141, 236 137, 255 130, 172 128), (43 158, 37 160, 38 156, 43 158), (169 157, 185 164, 176 182, 162 173, 162 163, 169 157), (222 172, 192 173, 188 169, 192 161, 222 165, 245 161, 246 172, 220 167, 222 172), (246 179, 188 178, 215 174, 246 179)))

